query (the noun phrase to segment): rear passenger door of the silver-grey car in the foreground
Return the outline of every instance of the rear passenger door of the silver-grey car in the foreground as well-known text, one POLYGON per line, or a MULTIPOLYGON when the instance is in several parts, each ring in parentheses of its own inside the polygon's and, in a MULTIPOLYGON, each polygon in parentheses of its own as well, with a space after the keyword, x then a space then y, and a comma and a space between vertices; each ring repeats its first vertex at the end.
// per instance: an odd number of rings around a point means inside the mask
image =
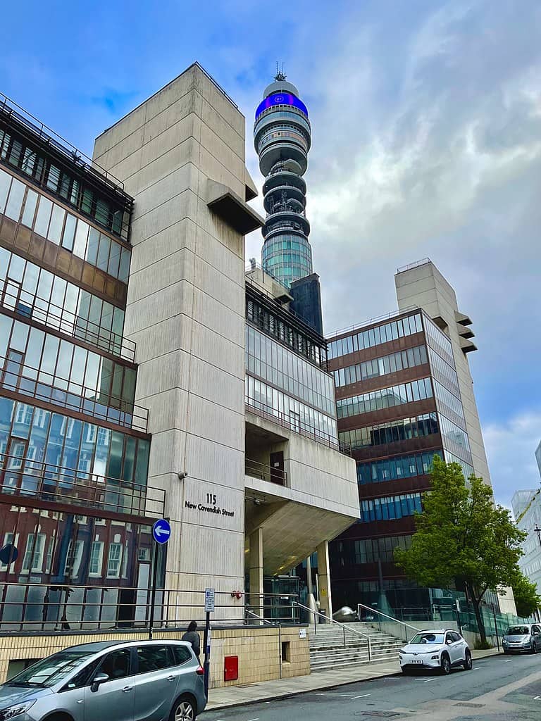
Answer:
POLYGON ((145 643, 136 647, 136 721, 169 718, 177 689, 178 669, 167 643, 145 643))

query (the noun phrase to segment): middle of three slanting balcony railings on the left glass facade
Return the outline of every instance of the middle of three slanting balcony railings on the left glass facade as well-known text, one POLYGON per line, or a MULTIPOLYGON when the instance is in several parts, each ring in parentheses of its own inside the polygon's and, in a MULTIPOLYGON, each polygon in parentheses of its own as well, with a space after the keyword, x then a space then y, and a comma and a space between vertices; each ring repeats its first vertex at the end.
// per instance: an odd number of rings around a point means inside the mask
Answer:
POLYGON ((14 393, 29 396, 71 411, 84 413, 96 422, 106 420, 123 428, 133 428, 146 433, 149 420, 147 408, 121 398, 81 386, 74 381, 57 379, 40 368, 33 368, 14 358, 0 355, 0 387, 14 393), (47 376, 51 384, 43 382, 47 376), (66 385, 69 390, 58 388, 54 383, 66 385))

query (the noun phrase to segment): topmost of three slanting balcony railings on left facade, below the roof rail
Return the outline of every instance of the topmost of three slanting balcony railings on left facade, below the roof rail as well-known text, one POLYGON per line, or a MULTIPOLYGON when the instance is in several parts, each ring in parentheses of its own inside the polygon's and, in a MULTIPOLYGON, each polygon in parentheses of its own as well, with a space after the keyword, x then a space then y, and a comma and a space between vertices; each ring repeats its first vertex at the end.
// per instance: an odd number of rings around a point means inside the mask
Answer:
POLYGON ((126 361, 135 360, 136 344, 122 335, 22 290, 13 280, 0 282, 0 302, 4 308, 26 319, 54 328, 126 361))

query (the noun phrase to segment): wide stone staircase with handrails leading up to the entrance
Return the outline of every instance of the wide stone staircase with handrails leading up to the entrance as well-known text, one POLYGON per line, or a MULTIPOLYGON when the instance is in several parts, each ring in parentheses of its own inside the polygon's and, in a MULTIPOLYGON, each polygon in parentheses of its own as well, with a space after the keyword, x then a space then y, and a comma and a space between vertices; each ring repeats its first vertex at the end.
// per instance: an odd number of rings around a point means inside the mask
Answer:
POLYGON ((333 671, 344 666, 361 663, 377 663, 385 660, 397 661, 398 650, 403 647, 401 641, 388 633, 379 631, 368 623, 351 623, 346 625, 346 646, 344 646, 343 628, 336 624, 318 624, 317 633, 312 624, 308 629, 310 646, 310 669, 317 671, 333 671), (352 633, 347 629, 359 631, 370 637, 371 659, 368 658, 366 638, 352 633))

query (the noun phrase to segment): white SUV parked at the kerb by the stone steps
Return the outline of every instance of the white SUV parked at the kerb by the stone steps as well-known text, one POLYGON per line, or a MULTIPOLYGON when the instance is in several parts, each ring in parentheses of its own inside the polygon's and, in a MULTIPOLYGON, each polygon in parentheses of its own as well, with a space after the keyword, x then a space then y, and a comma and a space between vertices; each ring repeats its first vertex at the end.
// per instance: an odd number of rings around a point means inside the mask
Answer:
POLYGON ((453 666, 472 668, 472 653, 462 636, 456 631, 435 629, 420 631, 398 652, 400 668, 410 673, 415 668, 438 668, 451 673, 453 666))

